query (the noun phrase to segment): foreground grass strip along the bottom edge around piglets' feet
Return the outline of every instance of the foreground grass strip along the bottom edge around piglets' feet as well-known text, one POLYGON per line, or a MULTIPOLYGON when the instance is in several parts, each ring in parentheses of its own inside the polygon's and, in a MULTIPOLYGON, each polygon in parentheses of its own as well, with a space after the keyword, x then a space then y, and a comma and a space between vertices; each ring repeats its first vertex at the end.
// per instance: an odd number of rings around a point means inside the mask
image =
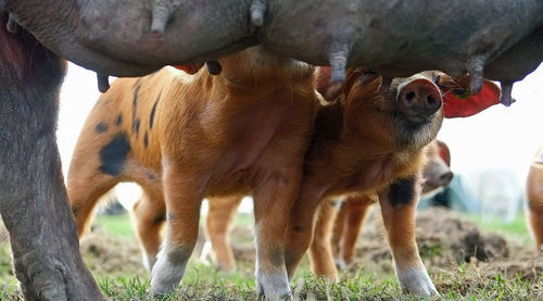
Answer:
MULTIPOLYGON (((543 284, 520 278, 505 279, 496 274, 490 278, 477 278, 475 267, 464 273, 443 272, 432 275, 441 292, 439 300, 538 300, 543 284)), ((236 284, 229 279, 213 277, 206 268, 193 266, 187 272, 180 287, 162 300, 255 300, 254 283, 236 284), (197 276, 197 277, 194 277, 197 276)), ((113 300, 151 300, 147 296, 148 280, 104 279, 99 285, 113 300)), ((294 300, 421 300, 403 293, 395 279, 383 279, 367 272, 358 272, 339 283, 304 273, 292 286, 294 300)), ((422 299, 424 300, 424 299, 422 299)))

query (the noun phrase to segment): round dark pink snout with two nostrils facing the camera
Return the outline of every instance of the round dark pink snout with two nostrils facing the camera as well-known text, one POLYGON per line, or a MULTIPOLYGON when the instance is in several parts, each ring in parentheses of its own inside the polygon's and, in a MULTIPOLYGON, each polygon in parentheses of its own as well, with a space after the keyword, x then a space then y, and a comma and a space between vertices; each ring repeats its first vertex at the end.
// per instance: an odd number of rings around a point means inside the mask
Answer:
POLYGON ((405 85, 397 95, 400 110, 409 117, 428 117, 442 103, 438 87, 426 78, 417 78, 405 85))

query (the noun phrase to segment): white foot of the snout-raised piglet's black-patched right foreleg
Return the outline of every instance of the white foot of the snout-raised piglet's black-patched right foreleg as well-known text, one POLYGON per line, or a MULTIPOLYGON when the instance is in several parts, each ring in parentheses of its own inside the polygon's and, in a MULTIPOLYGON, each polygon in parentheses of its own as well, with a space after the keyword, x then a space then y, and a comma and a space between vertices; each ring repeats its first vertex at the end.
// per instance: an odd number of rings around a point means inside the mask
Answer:
POLYGON ((400 286, 415 296, 439 296, 425 268, 404 268, 396 272, 400 286))

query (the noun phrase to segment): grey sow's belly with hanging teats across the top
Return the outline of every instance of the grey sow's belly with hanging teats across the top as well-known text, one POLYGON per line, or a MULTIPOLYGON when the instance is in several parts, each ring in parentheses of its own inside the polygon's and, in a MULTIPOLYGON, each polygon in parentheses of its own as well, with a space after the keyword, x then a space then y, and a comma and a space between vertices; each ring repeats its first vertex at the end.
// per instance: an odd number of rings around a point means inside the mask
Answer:
POLYGON ((543 60, 539 0, 3 0, 0 9, 102 81, 263 43, 280 55, 331 65, 334 80, 345 66, 390 77, 441 70, 469 73, 478 91, 485 75, 503 83, 503 103, 510 104, 513 83, 543 60))

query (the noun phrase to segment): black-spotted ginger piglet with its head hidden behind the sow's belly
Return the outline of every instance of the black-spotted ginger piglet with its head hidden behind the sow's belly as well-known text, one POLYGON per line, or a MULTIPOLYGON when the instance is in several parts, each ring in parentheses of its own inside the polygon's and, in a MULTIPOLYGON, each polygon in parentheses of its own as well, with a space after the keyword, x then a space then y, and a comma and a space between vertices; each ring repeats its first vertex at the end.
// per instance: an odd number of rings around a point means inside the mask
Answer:
POLYGON ((257 290, 283 298, 290 294, 285 212, 300 187, 318 103, 314 68, 263 47, 218 62, 223 71, 216 76, 168 67, 117 79, 100 97, 67 176, 77 229, 84 234, 98 199, 114 185, 138 183, 144 193, 134 206, 135 224, 151 269, 150 292, 162 296, 184 275, 202 200, 250 193, 257 290))

